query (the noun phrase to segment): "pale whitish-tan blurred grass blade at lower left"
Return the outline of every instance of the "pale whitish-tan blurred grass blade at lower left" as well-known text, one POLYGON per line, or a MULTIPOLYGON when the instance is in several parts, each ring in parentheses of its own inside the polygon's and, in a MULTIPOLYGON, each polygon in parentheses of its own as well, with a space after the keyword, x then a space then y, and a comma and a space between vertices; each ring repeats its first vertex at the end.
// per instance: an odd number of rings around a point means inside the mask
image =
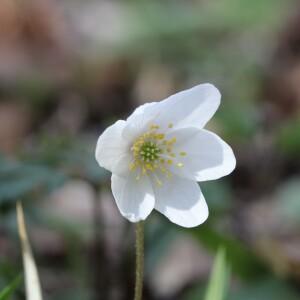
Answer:
POLYGON ((23 208, 20 202, 17 203, 18 229, 22 246, 25 288, 27 300, 42 300, 42 292, 37 268, 29 244, 23 208))

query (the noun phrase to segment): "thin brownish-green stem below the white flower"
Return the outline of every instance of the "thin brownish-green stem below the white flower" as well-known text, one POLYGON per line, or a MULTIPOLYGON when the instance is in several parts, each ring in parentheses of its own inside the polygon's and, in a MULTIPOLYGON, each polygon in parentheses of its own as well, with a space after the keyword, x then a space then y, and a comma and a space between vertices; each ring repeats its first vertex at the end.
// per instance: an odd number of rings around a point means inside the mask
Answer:
POLYGON ((136 266, 135 266, 135 290, 134 300, 142 300, 144 277, 144 221, 136 224, 136 266))

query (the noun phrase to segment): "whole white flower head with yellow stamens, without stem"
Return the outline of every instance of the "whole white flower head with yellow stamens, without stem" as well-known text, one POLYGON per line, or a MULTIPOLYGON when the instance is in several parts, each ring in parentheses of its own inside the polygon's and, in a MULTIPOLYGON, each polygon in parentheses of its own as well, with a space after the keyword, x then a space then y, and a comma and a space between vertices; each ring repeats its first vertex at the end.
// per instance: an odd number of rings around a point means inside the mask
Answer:
POLYGON ((220 98, 216 87, 201 84, 138 107, 99 137, 96 159, 112 172, 112 193, 125 218, 138 222, 156 209, 183 227, 207 219, 197 181, 228 175, 236 164, 230 146, 203 129, 220 98))

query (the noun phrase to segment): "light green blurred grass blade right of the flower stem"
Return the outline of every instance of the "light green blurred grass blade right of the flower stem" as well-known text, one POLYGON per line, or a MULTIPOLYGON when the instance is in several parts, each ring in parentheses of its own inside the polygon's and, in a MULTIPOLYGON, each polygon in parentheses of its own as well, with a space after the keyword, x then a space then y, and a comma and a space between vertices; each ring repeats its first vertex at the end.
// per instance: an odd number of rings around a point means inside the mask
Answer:
POLYGON ((207 287, 205 300, 224 300, 227 293, 229 270, 224 248, 219 248, 207 287))

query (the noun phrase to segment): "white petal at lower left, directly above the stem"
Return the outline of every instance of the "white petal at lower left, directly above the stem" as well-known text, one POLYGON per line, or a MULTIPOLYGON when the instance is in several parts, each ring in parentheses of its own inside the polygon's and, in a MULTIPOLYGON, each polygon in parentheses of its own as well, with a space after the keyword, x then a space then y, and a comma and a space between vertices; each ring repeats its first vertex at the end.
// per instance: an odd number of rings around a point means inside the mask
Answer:
POLYGON ((112 175, 111 188, 121 214, 131 222, 145 220, 154 208, 154 195, 147 176, 136 180, 112 175))

